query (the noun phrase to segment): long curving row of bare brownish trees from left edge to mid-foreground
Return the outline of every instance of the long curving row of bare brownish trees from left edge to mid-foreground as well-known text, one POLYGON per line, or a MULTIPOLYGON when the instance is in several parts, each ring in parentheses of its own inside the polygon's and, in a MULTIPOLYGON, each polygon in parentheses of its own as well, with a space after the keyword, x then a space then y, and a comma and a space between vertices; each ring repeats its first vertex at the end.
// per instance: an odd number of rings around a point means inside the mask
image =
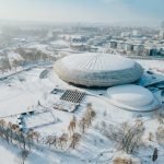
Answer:
POLYGON ((81 137, 85 133, 86 128, 92 125, 95 117, 95 112, 92 105, 89 104, 83 117, 78 121, 75 116, 69 122, 68 132, 61 133, 61 136, 47 136, 42 137, 34 130, 23 132, 22 129, 15 124, 5 122, 4 119, 0 119, 0 138, 8 143, 16 144, 21 149, 31 151, 34 144, 46 144, 56 149, 75 149, 81 137))

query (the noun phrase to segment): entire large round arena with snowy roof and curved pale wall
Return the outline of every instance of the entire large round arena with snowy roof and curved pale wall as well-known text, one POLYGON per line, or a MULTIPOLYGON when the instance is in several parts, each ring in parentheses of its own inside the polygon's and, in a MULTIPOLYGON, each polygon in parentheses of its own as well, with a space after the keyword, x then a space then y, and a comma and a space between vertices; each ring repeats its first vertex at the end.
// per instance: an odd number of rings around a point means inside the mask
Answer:
POLYGON ((70 55, 56 61, 54 70, 63 81, 85 86, 132 83, 143 73, 133 60, 108 54, 70 55))

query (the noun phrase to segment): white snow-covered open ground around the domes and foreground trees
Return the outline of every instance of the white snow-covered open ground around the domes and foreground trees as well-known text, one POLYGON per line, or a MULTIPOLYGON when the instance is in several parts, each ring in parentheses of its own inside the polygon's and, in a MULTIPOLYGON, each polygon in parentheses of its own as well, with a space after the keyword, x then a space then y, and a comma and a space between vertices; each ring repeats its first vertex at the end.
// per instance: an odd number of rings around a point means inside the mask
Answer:
MULTIPOLYGON (((154 70, 164 70, 164 61, 137 61, 140 62, 145 69, 151 68, 154 70)), ((99 94, 106 94, 106 89, 89 90, 69 85, 61 81, 52 70, 48 72, 47 78, 39 79, 39 75, 44 70, 44 68, 34 68, 32 70, 10 77, 7 80, 0 81, 0 117, 7 117, 32 109, 37 110, 39 109, 38 102, 46 107, 51 108, 55 101, 60 96, 60 94, 50 94, 50 92, 57 87, 62 90, 75 89, 86 92, 87 95, 82 101, 80 108, 74 113, 74 116, 80 119, 85 112, 86 104, 92 103, 93 108, 96 112, 96 118, 94 119, 93 126, 89 128, 86 133, 82 137, 75 150, 56 150, 40 147, 39 150, 33 150, 33 153, 27 157, 27 164, 95 164, 96 162, 101 164, 103 161, 115 154, 116 148, 115 144, 113 144, 113 141, 103 136, 94 128, 94 126, 104 120, 107 124, 115 125, 122 121, 132 122, 139 115, 143 119, 147 130, 144 133, 144 151, 141 150, 138 155, 143 155, 143 163, 150 164, 150 155, 153 153, 153 149, 151 149, 151 147, 157 147, 160 154, 157 163, 164 163, 164 156, 162 156, 162 154, 164 154, 164 150, 157 145, 157 143, 148 141, 149 132, 154 133, 160 126, 157 119, 154 117, 154 112, 140 114, 122 110, 110 105, 106 98, 103 98, 103 96, 99 96, 99 94), (99 154, 104 151, 107 151, 107 153, 99 156, 99 154)), ((159 73, 162 74, 161 72, 159 73)), ((40 127, 36 130, 43 136, 59 136, 62 132, 67 132, 68 124, 72 119, 73 114, 55 109, 51 109, 51 112, 59 121, 49 126, 40 127)), ((40 117, 40 119, 44 118, 40 117)), ((16 117, 8 117, 7 120, 15 122, 16 117)), ((16 156, 19 152, 20 150, 17 148, 9 145, 5 141, 0 141, 0 161, 2 164, 16 164, 16 156)))

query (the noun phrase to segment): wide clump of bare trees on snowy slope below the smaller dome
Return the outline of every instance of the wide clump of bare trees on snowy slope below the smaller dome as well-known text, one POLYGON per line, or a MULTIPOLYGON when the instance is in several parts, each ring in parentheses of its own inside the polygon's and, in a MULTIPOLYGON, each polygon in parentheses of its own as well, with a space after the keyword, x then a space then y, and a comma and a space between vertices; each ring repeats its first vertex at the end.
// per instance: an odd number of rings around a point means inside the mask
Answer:
POLYGON ((122 122, 117 126, 108 125, 102 132, 116 142, 118 150, 132 153, 141 144, 144 127, 142 121, 122 122))

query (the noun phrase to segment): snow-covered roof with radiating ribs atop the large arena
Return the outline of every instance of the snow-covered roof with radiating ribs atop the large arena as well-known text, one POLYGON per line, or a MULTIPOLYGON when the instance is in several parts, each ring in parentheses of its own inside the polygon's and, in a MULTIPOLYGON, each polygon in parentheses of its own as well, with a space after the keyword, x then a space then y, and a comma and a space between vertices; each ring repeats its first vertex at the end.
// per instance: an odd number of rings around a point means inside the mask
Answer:
POLYGON ((134 66, 134 61, 119 55, 86 52, 68 56, 62 65, 74 70, 102 71, 128 69, 134 66))

